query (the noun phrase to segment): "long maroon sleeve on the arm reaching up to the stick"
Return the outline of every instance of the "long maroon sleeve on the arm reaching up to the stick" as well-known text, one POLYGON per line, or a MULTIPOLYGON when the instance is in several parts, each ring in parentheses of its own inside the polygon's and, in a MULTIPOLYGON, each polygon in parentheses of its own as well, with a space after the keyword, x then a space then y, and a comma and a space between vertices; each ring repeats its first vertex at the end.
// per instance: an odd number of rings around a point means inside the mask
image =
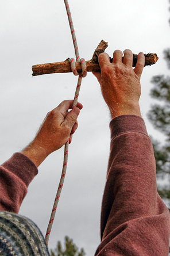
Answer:
POLYGON ((170 215, 157 194, 153 147, 144 120, 118 116, 110 129, 102 242, 95 255, 168 255, 170 215))

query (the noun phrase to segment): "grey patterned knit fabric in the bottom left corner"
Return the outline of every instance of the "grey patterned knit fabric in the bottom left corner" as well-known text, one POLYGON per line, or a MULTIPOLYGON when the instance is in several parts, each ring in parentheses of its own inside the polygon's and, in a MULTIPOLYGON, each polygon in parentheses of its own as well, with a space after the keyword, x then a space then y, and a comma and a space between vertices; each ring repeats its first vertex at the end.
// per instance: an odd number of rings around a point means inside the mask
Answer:
POLYGON ((0 212, 0 255, 46 256, 49 252, 41 231, 32 220, 0 212))

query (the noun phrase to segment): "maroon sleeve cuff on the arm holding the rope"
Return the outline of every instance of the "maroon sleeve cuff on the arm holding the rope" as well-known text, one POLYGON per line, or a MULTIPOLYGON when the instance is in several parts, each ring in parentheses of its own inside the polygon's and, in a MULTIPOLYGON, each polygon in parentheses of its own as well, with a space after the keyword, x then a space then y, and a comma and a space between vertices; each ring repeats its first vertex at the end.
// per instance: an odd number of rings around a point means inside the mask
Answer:
POLYGON ((18 213, 37 172, 34 163, 21 153, 15 153, 0 166, 0 211, 18 213))

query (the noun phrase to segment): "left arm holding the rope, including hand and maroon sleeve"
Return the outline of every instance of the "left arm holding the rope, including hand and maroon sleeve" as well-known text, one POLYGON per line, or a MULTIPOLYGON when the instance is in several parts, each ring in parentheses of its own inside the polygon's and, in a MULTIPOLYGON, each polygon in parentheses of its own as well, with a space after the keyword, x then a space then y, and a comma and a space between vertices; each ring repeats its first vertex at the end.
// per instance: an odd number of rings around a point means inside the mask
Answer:
POLYGON ((63 101, 49 112, 33 141, 0 166, 0 211, 18 213, 28 185, 38 173, 37 167, 49 154, 62 147, 68 137, 71 143, 83 107, 78 103, 77 108, 69 112, 72 102, 63 101))

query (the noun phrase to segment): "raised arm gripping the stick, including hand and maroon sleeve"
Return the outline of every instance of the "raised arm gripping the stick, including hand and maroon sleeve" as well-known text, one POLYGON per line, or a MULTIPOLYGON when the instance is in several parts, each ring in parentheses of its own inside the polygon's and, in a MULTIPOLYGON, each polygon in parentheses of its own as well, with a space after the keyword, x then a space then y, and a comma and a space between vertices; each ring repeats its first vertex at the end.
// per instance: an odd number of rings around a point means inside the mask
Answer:
POLYGON ((157 194, 152 143, 138 100, 144 55, 132 68, 132 52, 99 55, 95 73, 111 114, 109 165, 101 213, 101 255, 168 255, 169 211, 157 194))

